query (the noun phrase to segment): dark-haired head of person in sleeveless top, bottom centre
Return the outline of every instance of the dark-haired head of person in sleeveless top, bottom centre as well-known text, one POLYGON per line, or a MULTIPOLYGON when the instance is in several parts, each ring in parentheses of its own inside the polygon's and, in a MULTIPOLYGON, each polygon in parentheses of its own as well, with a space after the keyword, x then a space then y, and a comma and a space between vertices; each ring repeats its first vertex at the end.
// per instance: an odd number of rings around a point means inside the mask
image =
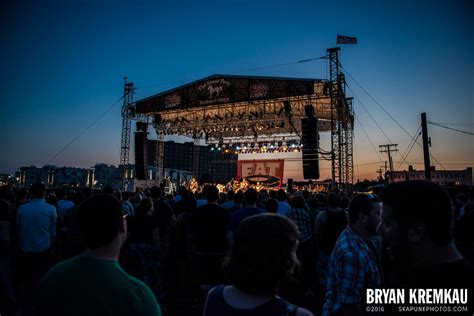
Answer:
POLYGON ((298 265, 297 238, 296 225, 284 216, 261 214, 244 219, 225 262, 230 282, 245 292, 275 294, 279 282, 298 265))

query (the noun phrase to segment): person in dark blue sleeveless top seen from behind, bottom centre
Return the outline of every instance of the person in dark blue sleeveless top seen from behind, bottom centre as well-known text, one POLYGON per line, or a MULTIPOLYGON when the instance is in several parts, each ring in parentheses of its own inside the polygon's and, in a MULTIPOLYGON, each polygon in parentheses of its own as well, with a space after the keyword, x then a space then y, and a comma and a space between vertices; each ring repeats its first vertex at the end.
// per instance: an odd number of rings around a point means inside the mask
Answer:
POLYGON ((230 285, 209 291, 204 315, 312 315, 278 296, 280 281, 298 266, 298 229, 286 217, 254 215, 243 220, 225 262, 230 285))

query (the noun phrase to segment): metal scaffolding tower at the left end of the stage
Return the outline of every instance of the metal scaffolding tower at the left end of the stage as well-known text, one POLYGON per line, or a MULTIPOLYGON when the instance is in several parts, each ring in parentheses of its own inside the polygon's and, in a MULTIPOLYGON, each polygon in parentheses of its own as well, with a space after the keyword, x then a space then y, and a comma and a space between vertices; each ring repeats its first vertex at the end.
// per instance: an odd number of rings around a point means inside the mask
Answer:
POLYGON ((127 83, 127 77, 123 89, 123 105, 122 105, 122 141, 120 145, 120 165, 128 165, 130 163, 130 130, 131 119, 134 116, 132 107, 133 103, 133 83, 127 83))

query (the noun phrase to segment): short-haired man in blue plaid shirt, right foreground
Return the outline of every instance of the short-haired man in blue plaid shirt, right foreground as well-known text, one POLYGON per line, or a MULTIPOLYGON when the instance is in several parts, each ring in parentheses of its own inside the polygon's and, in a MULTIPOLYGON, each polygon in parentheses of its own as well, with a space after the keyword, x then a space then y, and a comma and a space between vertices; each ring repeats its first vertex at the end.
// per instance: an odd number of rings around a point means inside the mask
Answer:
POLYGON ((372 194, 358 194, 349 204, 349 225, 339 236, 329 261, 322 315, 362 315, 367 288, 380 288, 382 270, 373 239, 381 203, 372 194))

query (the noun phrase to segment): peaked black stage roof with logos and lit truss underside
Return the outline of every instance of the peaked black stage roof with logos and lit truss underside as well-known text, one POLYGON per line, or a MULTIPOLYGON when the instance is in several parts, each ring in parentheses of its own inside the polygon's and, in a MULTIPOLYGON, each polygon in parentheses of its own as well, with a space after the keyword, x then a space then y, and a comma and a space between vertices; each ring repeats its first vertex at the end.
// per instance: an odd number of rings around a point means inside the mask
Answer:
POLYGON ((134 103, 135 113, 151 116, 160 134, 222 139, 301 132, 308 106, 318 129, 331 119, 329 82, 324 79, 212 75, 134 103))

